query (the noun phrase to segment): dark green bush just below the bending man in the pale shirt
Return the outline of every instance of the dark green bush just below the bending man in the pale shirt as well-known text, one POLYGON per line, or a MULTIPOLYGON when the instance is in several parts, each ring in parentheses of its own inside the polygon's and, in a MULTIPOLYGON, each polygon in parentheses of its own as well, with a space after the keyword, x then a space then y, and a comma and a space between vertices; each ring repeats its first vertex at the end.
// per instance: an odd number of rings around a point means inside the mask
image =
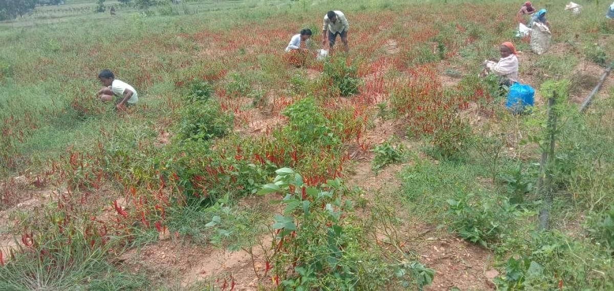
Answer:
POLYGON ((339 89, 341 96, 351 96, 359 93, 360 78, 356 75, 356 66, 346 65, 345 58, 336 58, 324 64, 324 78, 339 89))

